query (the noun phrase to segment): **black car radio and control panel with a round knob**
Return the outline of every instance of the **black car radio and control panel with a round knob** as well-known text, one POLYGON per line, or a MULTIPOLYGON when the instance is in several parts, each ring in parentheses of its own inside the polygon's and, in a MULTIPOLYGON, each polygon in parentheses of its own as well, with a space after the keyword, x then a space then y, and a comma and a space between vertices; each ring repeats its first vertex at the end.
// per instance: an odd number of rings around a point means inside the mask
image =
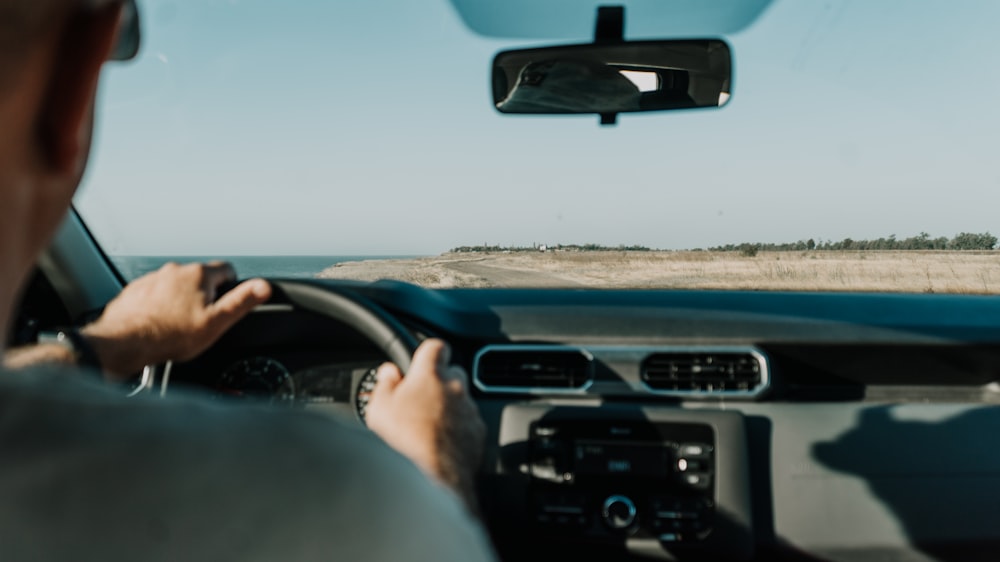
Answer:
POLYGON ((703 540, 715 513, 715 437, 693 423, 540 421, 529 440, 534 521, 554 532, 703 540))

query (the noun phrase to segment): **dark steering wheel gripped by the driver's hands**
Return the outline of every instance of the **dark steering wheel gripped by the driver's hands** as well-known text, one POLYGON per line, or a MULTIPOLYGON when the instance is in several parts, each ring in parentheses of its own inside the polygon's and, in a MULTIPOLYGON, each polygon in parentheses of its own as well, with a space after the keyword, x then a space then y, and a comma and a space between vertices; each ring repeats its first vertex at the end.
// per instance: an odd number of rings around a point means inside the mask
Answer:
MULTIPOLYGON (((368 298, 344 287, 320 285, 314 281, 268 279, 268 283, 272 288, 268 304, 289 304, 298 310, 338 320, 375 344, 399 367, 400 372, 406 374, 409 370, 410 359, 420 342, 398 320, 368 298)), ((159 386, 159 395, 165 396, 171 368, 170 362, 147 367, 142 382, 130 396, 155 391, 156 386, 159 386)))

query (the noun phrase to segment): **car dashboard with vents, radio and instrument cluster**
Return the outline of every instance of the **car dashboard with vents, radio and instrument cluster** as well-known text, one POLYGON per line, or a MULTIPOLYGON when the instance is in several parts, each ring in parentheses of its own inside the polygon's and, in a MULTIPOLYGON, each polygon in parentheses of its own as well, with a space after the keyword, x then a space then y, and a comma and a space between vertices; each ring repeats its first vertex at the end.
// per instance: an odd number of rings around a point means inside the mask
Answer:
MULTIPOLYGON (((451 342, 505 560, 976 560, 1000 547, 1000 299, 355 292, 451 342)), ((325 285, 324 285, 325 284, 325 285)), ((380 348, 261 307, 170 386, 361 423, 380 348)))

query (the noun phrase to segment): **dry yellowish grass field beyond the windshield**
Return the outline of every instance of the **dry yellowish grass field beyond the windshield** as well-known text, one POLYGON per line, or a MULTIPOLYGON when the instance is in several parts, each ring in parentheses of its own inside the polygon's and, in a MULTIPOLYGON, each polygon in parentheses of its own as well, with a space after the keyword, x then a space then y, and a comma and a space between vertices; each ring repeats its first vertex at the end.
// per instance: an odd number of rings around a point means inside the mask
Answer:
POLYGON ((318 275, 425 287, 1000 293, 1000 252, 461 253, 338 264, 318 275))

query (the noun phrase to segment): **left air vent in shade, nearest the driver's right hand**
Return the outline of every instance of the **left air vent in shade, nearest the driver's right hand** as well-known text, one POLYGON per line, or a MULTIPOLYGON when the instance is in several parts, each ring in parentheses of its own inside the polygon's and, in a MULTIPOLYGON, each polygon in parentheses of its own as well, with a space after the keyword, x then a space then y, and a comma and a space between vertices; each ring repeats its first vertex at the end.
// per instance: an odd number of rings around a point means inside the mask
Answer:
POLYGON ((592 361, 574 347, 490 346, 476 356, 473 382, 487 392, 582 392, 593 381, 592 361))

